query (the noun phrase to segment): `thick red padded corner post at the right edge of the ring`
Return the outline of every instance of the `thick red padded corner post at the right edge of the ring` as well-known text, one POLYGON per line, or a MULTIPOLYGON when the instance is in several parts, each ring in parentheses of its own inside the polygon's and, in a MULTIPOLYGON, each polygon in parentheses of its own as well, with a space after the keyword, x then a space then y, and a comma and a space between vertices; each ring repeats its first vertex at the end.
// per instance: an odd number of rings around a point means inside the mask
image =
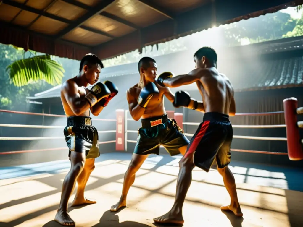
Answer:
POLYGON ((284 119, 286 125, 288 158, 292 161, 303 160, 303 149, 297 125, 298 100, 294 97, 283 100, 284 119))

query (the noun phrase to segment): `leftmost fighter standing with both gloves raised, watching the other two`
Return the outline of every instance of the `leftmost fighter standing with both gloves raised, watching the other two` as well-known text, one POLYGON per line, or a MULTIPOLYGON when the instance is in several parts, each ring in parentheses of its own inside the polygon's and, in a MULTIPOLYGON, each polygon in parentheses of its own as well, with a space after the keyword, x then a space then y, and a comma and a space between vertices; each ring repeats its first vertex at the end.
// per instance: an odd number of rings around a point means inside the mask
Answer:
POLYGON ((78 189, 72 206, 96 203, 84 197, 85 185, 95 168, 95 158, 100 156, 98 131, 92 126, 89 111, 98 116, 118 93, 118 88, 110 81, 95 84, 102 68, 102 61, 96 55, 87 54, 81 60, 79 74, 65 81, 61 88, 61 101, 67 117, 63 132, 69 149, 71 169, 63 181, 55 221, 65 226, 75 226, 75 222, 67 213, 67 204, 76 180, 78 189), (88 90, 85 88, 88 84, 95 85, 88 90))

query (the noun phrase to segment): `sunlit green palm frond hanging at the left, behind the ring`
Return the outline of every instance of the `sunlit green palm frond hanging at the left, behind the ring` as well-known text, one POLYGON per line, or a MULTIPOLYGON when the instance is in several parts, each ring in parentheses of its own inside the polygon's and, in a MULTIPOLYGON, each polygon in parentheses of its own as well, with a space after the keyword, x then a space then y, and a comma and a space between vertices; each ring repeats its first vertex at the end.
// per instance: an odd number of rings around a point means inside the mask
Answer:
POLYGON ((39 55, 13 62, 6 67, 13 84, 24 86, 31 81, 44 80, 53 86, 61 84, 64 68, 50 55, 39 55))

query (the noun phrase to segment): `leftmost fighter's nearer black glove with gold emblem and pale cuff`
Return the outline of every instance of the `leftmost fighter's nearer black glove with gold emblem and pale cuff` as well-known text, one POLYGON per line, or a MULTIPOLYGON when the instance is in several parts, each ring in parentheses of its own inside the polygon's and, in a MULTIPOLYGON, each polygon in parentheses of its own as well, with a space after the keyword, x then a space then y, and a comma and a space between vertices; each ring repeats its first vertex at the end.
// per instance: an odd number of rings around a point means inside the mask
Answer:
POLYGON ((85 98, 88 100, 89 105, 92 107, 102 98, 107 97, 109 94, 111 94, 111 91, 108 89, 108 87, 105 84, 99 82, 92 87, 85 98))

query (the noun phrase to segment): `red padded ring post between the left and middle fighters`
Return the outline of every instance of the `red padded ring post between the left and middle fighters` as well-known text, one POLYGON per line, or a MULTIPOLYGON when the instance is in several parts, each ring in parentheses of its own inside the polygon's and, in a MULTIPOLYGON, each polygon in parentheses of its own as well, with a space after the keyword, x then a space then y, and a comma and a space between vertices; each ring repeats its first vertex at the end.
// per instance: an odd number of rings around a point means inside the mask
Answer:
POLYGON ((116 110, 116 151, 124 151, 124 110, 116 110))

